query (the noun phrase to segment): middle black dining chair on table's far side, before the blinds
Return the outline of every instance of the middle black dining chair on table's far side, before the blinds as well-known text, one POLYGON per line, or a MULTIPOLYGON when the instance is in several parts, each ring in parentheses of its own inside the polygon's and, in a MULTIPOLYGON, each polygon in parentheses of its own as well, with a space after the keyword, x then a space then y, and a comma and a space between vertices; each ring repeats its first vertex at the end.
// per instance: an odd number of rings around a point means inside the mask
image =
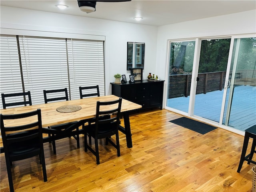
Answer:
MULTIPOLYGON (((68 101, 68 90, 67 90, 67 88, 56 89, 56 90, 43 90, 43 92, 44 92, 44 102, 45 103, 54 102, 54 101, 61 101, 61 100, 68 101)), ((64 123, 64 124, 60 124, 60 125, 49 126, 48 128, 52 128, 54 130, 59 130, 59 131, 64 131, 71 124, 76 124, 76 123, 77 122, 64 123)), ((79 127, 77 127, 76 129, 77 129, 77 132, 78 132, 79 127)), ((46 133, 45 130, 44 130, 44 133, 46 133)), ((50 132, 47 132, 47 133, 48 133, 48 136, 50 137, 51 136, 50 132)), ((52 136, 54 136, 54 135, 52 135, 52 136)), ((68 137, 70 138, 71 136, 73 136, 74 139, 76 139, 77 148, 80 148, 79 134, 70 135, 68 137)), ((51 143, 52 143, 53 153, 56 154, 55 140, 52 139, 51 143)))

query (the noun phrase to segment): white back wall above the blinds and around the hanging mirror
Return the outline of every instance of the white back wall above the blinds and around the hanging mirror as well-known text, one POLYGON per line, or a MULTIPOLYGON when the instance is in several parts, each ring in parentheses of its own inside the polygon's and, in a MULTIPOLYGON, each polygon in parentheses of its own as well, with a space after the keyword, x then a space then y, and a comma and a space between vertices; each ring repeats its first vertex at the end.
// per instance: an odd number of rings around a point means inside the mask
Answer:
MULTIPOLYGON (((40 31, 56 32, 54 36, 65 37, 70 33, 73 38, 80 34, 105 36, 105 82, 106 95, 110 94, 110 82, 114 82, 114 74, 126 74, 129 79, 130 71, 126 70, 127 42, 145 43, 145 67, 143 79, 147 79, 148 72, 155 69, 157 27, 116 22, 110 20, 86 18, 66 14, 42 12, 1 6, 0 12, 1 34, 8 29, 24 34, 30 30, 31 34, 42 34, 40 31)), ((16 34, 16 35, 19 35, 16 34)))

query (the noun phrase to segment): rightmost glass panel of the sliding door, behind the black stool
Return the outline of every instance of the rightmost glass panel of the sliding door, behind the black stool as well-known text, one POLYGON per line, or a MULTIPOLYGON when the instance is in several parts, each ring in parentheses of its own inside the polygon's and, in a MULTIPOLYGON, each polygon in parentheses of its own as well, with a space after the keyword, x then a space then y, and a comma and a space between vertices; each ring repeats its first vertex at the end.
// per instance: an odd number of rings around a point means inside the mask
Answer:
POLYGON ((256 38, 234 40, 222 124, 238 130, 256 124, 256 38))

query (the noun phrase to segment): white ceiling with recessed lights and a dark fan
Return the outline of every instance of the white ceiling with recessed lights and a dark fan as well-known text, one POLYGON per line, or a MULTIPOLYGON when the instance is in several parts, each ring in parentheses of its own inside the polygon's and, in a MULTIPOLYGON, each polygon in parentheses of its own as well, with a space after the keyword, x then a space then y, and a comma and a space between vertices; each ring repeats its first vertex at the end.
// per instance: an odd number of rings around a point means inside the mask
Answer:
POLYGON ((255 0, 132 0, 130 2, 97 2, 96 12, 80 11, 76 0, 0 0, 10 6, 100 18, 152 26, 162 26, 189 20, 220 16, 256 9, 255 0), (65 4, 65 10, 55 5, 65 4), (143 17, 136 21, 134 17, 143 17))

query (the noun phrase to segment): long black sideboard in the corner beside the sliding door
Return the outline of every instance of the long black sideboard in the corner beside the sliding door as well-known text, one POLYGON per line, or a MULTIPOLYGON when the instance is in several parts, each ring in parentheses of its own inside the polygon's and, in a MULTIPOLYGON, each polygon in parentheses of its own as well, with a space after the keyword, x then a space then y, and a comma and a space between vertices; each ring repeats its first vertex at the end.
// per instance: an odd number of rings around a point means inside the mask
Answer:
POLYGON ((164 80, 159 81, 136 81, 112 85, 112 95, 122 97, 131 102, 142 105, 142 108, 163 108, 164 80))

